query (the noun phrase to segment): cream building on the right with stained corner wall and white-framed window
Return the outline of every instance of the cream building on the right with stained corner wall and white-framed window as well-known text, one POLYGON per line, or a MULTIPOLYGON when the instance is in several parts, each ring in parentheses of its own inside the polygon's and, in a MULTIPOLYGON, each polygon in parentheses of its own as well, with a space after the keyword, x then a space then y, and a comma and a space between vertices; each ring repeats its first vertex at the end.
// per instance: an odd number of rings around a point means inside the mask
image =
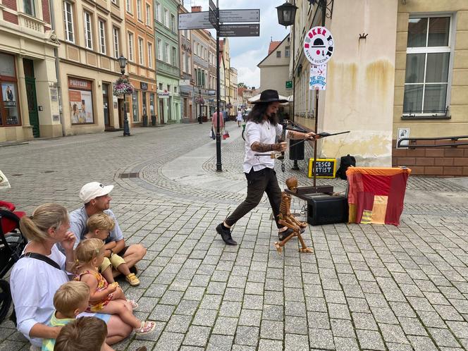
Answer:
MULTIPOLYGON (((302 44, 309 28, 321 25, 321 10, 309 1, 296 5, 295 121, 313 130, 316 92, 309 90, 302 44)), ((352 154, 360 166, 405 164, 416 174, 456 175, 431 168, 436 160, 426 153, 418 152, 427 160, 417 165, 395 142, 399 130, 411 137, 468 135, 467 11, 463 0, 358 0, 353 6, 335 0, 326 18, 335 47, 326 91, 319 92, 318 130, 351 133, 321 140, 319 155, 352 154)), ((463 171, 462 165, 456 170, 463 171)))

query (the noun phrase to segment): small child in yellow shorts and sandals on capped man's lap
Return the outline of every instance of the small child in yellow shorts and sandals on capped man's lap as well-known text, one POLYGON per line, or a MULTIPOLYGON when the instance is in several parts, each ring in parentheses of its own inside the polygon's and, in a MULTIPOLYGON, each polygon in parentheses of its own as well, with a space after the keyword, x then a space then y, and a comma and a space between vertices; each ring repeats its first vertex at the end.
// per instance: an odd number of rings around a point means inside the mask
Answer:
MULTIPOLYGON (((98 238, 100 240, 106 240, 109 236, 109 232, 113 230, 113 227, 116 223, 110 216, 100 212, 99 214, 94 214, 88 218, 86 226, 88 233, 85 235, 85 238, 92 239, 98 238)), ((111 241, 104 245, 104 250, 109 251, 109 258, 104 257, 104 261, 100 266, 101 274, 106 278, 106 281, 113 283, 112 276, 112 267, 117 271, 121 272, 125 276, 125 280, 132 286, 140 285, 140 280, 135 276, 135 273, 130 273, 125 260, 114 254, 112 249, 116 247, 116 242, 111 241)))

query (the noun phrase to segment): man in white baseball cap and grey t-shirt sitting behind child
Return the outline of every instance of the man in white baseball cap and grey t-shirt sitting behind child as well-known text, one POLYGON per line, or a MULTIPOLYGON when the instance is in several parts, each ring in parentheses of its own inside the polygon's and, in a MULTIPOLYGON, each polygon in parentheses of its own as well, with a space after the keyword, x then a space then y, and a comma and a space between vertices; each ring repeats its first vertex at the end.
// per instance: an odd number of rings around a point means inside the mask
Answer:
MULTIPOLYGON (((109 233, 109 237, 106 239, 106 242, 115 241, 116 247, 112 250, 106 250, 105 256, 110 257, 112 254, 118 254, 118 256, 125 259, 125 263, 128 268, 130 268, 130 271, 135 273, 136 269, 132 267, 135 266, 137 261, 140 261, 144 257, 147 250, 141 244, 125 246, 125 240, 123 240, 123 233, 121 228, 118 226, 117 218, 109 209, 112 199, 109 193, 112 189, 113 185, 102 185, 97 182, 83 185, 80 190, 80 199, 84 205, 70 213, 70 231, 75 234, 76 247, 78 242, 80 242, 87 233, 87 219, 93 214, 104 212, 116 223, 113 230, 109 233)), ((115 270, 113 273, 114 276, 119 274, 119 272, 115 270)))

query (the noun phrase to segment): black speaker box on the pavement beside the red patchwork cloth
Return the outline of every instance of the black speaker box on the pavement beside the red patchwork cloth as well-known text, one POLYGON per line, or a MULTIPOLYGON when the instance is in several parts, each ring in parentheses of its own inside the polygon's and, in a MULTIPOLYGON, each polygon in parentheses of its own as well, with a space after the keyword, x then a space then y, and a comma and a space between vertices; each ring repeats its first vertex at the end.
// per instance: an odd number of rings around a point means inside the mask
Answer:
POLYGON ((343 195, 319 195, 307 199, 307 223, 312 226, 347 222, 347 198, 343 195))

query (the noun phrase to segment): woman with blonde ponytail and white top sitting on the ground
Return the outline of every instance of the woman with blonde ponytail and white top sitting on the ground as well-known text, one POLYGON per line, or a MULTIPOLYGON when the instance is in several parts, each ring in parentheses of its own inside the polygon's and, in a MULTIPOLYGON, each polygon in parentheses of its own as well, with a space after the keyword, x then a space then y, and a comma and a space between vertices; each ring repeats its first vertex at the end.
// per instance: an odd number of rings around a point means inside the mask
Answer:
MULTIPOLYGON (((42 204, 32 213, 23 216, 20 228, 29 240, 25 254, 40 254, 54 261, 60 269, 41 259, 23 257, 11 271, 10 285, 15 304, 18 331, 30 340, 32 345, 41 346, 42 338, 56 338, 61 327, 47 325, 54 312, 54 294, 60 285, 68 281, 66 271, 73 264, 75 235, 68 229, 68 212, 58 204, 42 204), (56 247, 60 242, 66 254, 56 247)), ((51 262, 52 263, 52 262, 51 262)), ((101 316, 96 315, 101 318, 101 316)), ((104 316, 107 323, 108 344, 118 343, 132 331, 118 316, 104 316)))

